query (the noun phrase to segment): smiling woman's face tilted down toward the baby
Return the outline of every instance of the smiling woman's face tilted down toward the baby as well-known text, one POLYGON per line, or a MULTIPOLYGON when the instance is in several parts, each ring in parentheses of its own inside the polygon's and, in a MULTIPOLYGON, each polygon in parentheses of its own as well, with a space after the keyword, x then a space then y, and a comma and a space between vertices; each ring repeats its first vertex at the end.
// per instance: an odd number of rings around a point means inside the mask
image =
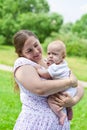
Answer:
POLYGON ((22 55, 29 60, 39 63, 42 59, 42 47, 38 39, 29 37, 24 44, 22 55))

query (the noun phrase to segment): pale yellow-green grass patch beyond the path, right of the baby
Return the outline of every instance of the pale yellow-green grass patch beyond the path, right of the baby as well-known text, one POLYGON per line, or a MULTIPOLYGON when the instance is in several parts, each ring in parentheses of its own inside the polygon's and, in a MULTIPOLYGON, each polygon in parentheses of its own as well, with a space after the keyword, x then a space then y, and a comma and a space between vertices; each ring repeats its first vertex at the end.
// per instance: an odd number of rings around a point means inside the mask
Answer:
POLYGON ((79 57, 67 58, 69 67, 79 80, 87 81, 87 59, 79 57))

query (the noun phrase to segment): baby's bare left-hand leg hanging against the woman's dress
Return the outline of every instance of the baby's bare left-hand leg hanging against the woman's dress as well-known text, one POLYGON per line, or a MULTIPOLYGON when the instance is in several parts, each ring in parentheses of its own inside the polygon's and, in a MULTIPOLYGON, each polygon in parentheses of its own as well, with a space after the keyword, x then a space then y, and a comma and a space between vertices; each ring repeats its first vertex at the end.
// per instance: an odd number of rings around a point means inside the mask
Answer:
POLYGON ((59 117, 59 123, 61 125, 63 125, 64 120, 67 117, 66 113, 64 113, 63 110, 59 111, 60 107, 58 105, 52 104, 49 100, 48 100, 48 104, 49 104, 50 108, 53 110, 53 112, 59 117))

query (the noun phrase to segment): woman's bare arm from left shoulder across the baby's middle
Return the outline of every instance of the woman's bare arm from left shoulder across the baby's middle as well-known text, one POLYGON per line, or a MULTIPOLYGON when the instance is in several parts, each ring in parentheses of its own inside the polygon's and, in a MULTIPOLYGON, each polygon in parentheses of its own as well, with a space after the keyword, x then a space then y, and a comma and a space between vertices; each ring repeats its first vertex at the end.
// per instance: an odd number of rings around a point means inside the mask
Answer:
POLYGON ((41 80, 36 69, 30 65, 19 67, 15 77, 26 89, 38 95, 51 95, 77 83, 73 76, 64 80, 41 80))

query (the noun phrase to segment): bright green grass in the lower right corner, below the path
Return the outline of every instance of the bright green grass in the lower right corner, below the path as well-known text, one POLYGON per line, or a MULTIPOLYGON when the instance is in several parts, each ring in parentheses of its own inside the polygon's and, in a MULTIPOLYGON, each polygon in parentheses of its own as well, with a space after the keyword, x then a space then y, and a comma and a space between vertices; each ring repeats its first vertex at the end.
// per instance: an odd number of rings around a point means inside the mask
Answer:
POLYGON ((87 88, 82 100, 73 107, 73 120, 71 121, 71 130, 87 129, 87 88))

